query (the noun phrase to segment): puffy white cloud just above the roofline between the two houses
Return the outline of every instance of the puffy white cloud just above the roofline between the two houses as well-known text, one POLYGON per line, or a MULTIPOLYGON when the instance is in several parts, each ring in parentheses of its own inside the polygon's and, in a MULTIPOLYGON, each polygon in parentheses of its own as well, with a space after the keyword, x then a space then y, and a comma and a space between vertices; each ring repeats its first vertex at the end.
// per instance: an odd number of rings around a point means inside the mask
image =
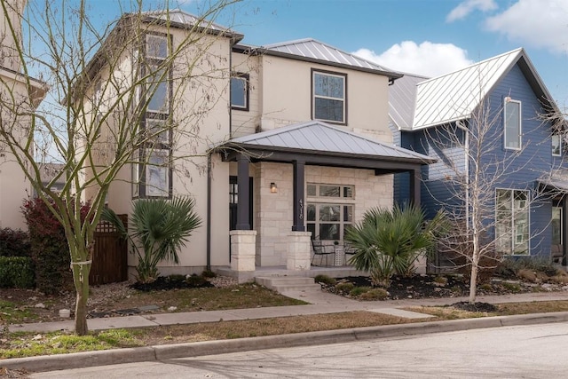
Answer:
POLYGON ((465 51, 452 43, 430 43, 420 45, 413 41, 394 44, 382 54, 368 49, 359 49, 353 54, 375 62, 390 70, 424 76, 438 76, 467 67, 473 61, 465 51))

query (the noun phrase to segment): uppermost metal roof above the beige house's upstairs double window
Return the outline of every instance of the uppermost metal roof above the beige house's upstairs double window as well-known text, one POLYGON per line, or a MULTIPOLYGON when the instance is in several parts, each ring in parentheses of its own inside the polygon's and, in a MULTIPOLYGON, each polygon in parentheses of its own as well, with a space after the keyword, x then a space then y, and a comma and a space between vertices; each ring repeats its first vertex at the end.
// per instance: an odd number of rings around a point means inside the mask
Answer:
POLYGON ((242 49, 243 51, 247 50, 258 54, 275 55, 316 62, 329 66, 387 75, 390 79, 397 79, 402 76, 390 71, 386 67, 379 66, 367 59, 359 58, 349 52, 341 51, 334 46, 319 42, 313 38, 304 38, 283 43, 272 43, 260 47, 243 45, 241 48, 244 48, 242 49), (246 49, 247 47, 248 49, 246 49))

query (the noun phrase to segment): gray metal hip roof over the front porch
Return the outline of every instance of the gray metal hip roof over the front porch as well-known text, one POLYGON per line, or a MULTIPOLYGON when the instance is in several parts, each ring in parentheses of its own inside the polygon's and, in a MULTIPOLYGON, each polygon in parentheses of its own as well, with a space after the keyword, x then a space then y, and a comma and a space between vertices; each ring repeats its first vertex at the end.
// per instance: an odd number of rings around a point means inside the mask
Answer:
POLYGON ((351 131, 320 121, 303 122, 275 130, 267 130, 235 138, 229 141, 229 143, 287 150, 307 150, 361 156, 374 155, 377 158, 392 158, 399 161, 433 161, 429 156, 359 136, 351 131))

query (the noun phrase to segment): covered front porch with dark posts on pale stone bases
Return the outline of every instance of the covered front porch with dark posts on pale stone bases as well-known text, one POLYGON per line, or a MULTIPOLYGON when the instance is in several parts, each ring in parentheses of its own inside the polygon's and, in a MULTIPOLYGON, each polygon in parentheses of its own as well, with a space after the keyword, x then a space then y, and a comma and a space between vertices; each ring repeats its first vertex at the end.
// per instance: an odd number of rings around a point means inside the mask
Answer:
POLYGON ((216 151, 236 169, 238 202, 226 269, 240 280, 258 272, 360 274, 335 262, 312 265, 312 239, 343 245, 344 229, 367 209, 392 206, 393 173, 411 173, 409 201, 420 204, 422 165, 432 162, 316 121, 235 138, 216 151))

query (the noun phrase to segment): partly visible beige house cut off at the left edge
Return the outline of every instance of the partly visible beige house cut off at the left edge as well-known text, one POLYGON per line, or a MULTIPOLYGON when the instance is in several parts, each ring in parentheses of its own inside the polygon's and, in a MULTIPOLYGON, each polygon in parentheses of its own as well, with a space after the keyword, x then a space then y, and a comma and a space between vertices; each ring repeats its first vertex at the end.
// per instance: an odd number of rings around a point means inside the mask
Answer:
MULTIPOLYGON (((7 12, 0 12, 0 133, 17 139, 27 137, 30 120, 16 114, 37 107, 46 91, 44 83, 21 73, 18 46, 25 5, 26 0, 16 0, 7 5, 7 12)), ((25 229, 20 208, 23 199, 32 194, 31 186, 3 139, 0 136, 0 227, 25 229)))

